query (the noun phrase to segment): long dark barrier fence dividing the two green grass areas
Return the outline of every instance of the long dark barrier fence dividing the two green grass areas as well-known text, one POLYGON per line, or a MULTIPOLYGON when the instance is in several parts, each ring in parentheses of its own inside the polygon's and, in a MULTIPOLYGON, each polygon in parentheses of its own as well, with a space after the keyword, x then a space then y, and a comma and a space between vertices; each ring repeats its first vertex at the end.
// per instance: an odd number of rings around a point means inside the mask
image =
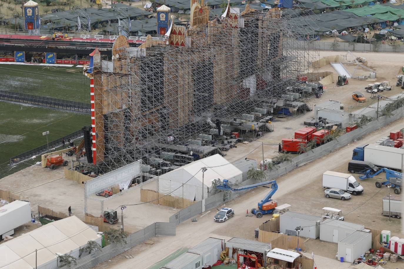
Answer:
POLYGON ((0 99, 91 114, 91 104, 0 90, 0 99))

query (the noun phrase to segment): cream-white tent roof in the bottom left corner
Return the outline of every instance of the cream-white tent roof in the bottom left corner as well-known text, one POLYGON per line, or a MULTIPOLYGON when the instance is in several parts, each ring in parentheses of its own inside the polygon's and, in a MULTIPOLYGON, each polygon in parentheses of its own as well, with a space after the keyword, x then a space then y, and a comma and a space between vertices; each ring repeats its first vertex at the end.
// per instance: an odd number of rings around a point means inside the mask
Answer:
POLYGON ((51 222, 1 244, 0 267, 35 268, 35 250, 39 267, 56 261, 56 253, 68 253, 99 237, 76 216, 51 222))

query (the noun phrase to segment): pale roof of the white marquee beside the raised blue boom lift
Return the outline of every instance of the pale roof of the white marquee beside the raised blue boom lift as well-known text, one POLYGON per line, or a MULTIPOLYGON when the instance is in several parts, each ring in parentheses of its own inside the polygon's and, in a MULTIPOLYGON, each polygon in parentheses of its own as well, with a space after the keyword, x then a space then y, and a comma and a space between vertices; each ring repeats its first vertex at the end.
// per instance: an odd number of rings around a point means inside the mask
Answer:
POLYGON ((181 183, 185 183, 191 179, 187 184, 196 186, 202 186, 203 180, 204 185, 210 187, 214 179, 229 179, 230 181, 230 179, 240 176, 242 178, 242 171, 240 169, 229 163, 219 154, 215 154, 165 173, 159 176, 159 179, 169 179, 181 183), (202 167, 212 167, 206 170, 204 179, 202 179, 202 167))

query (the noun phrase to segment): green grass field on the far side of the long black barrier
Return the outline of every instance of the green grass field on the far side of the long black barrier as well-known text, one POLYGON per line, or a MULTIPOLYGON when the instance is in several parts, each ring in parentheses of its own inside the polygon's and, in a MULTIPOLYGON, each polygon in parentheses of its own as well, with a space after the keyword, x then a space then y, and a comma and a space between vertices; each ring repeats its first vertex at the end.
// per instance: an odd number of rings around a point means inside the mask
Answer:
POLYGON ((0 73, 0 90, 90 103, 90 79, 81 68, 0 65, 0 73))

